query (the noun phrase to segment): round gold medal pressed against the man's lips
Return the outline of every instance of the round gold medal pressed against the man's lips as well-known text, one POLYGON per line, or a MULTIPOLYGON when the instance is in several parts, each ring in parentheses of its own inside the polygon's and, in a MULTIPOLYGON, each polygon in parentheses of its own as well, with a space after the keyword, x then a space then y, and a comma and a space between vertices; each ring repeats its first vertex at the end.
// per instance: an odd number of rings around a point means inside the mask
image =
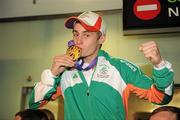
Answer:
POLYGON ((72 46, 68 47, 66 54, 68 56, 70 56, 74 61, 76 61, 81 56, 81 48, 72 45, 72 46))

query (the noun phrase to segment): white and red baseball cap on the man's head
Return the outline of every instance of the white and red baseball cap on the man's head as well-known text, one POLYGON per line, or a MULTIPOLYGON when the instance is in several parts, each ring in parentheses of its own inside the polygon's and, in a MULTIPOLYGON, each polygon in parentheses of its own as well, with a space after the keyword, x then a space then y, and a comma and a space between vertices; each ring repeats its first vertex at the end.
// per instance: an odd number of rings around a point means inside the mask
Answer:
POLYGON ((97 13, 88 11, 83 12, 79 16, 69 17, 65 21, 65 26, 69 29, 73 29, 74 23, 79 21, 81 25, 88 31, 98 32, 100 31, 103 35, 106 34, 106 25, 100 15, 97 13))

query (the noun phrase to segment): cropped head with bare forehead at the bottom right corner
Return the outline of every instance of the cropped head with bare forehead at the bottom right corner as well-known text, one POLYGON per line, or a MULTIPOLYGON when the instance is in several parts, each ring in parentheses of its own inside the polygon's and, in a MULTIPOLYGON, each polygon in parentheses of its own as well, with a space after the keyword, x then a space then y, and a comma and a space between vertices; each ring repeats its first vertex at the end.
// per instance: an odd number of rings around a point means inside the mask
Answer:
POLYGON ((180 120, 180 108, 175 106, 162 106, 151 113, 149 120, 180 120))

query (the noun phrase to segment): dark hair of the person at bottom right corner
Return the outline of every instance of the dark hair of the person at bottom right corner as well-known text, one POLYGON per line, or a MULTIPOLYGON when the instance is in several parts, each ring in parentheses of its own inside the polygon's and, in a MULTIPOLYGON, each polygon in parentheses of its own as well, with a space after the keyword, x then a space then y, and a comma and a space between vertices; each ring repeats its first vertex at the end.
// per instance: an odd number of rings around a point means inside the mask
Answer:
POLYGON ((172 113, 176 114, 176 119, 180 120, 180 108, 175 107, 175 106, 161 106, 161 107, 153 110, 153 112, 151 113, 150 116, 153 116, 156 113, 163 112, 163 111, 172 112, 172 113))

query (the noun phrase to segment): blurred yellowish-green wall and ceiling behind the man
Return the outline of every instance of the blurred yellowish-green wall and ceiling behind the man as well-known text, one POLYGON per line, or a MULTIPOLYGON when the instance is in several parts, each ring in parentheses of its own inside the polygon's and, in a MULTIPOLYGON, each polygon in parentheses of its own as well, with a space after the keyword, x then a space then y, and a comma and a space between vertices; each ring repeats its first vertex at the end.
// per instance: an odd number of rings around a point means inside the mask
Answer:
MULTIPOLYGON (((16 112, 28 107, 29 94, 41 72, 51 66, 53 56, 65 53, 67 41, 72 39, 64 20, 87 10, 99 12, 106 21, 107 40, 102 49, 139 65, 149 76, 152 66, 138 46, 150 40, 158 43, 175 73, 176 94, 170 105, 180 107, 180 32, 123 35, 121 0, 0 0, 0 120, 11 120, 16 112)), ((61 97, 45 107, 54 112, 56 119, 63 119, 61 97)), ((156 107, 132 95, 129 119, 156 107)))

